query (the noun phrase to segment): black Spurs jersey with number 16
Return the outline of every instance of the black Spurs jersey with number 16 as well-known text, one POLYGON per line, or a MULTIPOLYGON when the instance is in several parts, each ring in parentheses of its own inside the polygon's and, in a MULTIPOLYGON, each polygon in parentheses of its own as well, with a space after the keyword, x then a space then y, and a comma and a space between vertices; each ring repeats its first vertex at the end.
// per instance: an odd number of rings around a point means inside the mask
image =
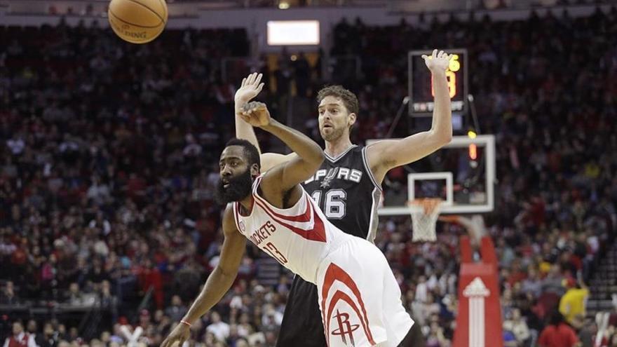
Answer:
POLYGON ((369 169, 366 147, 353 145, 336 158, 325 154, 319 170, 303 186, 334 226, 373 242, 381 185, 369 169))

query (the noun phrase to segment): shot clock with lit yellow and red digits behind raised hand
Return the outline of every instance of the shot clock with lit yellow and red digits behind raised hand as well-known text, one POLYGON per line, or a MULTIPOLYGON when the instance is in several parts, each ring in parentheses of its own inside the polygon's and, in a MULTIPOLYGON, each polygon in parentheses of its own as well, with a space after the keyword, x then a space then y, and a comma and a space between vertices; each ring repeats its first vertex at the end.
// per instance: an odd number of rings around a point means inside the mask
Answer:
MULTIPOLYGON (((467 50, 444 49, 452 54, 446 71, 448 90, 452 100, 452 111, 464 114, 467 109, 467 50)), ((433 79, 426 68, 422 55, 432 50, 409 52, 409 116, 430 116, 433 113, 433 79)))

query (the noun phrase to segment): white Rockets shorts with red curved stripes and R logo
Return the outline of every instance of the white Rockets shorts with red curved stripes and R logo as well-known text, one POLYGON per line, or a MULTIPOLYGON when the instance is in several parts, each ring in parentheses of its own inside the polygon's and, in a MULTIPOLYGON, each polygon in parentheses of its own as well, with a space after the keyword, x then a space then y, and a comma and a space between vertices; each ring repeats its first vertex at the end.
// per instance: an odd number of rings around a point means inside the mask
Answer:
POLYGON ((317 288, 329 347, 396 347, 414 325, 386 257, 362 238, 328 254, 317 288))

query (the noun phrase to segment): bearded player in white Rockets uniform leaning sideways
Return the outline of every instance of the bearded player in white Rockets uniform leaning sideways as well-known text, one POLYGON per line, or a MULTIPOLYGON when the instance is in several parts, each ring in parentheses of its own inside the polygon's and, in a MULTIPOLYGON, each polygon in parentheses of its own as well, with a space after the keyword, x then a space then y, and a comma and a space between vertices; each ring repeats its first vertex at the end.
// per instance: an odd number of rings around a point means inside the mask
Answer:
POLYGON ((323 151, 301 132, 271 119, 265 104, 251 102, 245 121, 285 142, 297 156, 261 174, 259 152, 246 140, 227 143, 220 160, 216 197, 226 204, 219 264, 201 294, 161 344, 179 346, 191 325, 215 306, 236 279, 251 240, 281 265, 318 287, 318 306, 330 347, 412 347, 405 341, 414 321, 400 301, 400 288, 379 249, 328 222, 300 185, 324 160, 323 151))

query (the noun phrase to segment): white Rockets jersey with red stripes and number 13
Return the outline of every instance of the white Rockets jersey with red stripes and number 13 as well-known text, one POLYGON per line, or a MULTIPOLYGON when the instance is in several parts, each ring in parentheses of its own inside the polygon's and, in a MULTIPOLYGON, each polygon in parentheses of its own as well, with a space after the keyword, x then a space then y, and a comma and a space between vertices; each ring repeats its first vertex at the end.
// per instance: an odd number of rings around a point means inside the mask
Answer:
POLYGON ((241 215, 240 203, 233 203, 238 231, 281 265, 316 284, 323 259, 351 236, 328 222, 304 189, 294 206, 280 209, 259 196, 261 181, 259 176, 253 182, 250 215, 241 215))

